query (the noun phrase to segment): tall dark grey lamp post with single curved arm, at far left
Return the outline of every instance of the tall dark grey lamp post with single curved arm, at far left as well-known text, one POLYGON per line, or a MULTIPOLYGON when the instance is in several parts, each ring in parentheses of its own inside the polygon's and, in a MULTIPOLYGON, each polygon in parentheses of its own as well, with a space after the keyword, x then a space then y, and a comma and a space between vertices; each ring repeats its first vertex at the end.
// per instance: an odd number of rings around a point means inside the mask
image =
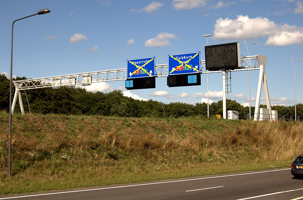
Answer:
MULTIPOLYGON (((49 13, 48 9, 42 9, 39 10, 36 14, 34 15, 43 15, 46 13, 49 13)), ((16 19, 13 21, 12 24, 12 46, 11 46, 11 75, 10 75, 10 86, 9 86, 9 128, 8 128, 8 176, 11 175, 11 147, 12 147, 12 71, 13 71, 13 29, 14 29, 14 23, 16 21, 32 17, 34 15, 29 15, 24 18, 16 19)))

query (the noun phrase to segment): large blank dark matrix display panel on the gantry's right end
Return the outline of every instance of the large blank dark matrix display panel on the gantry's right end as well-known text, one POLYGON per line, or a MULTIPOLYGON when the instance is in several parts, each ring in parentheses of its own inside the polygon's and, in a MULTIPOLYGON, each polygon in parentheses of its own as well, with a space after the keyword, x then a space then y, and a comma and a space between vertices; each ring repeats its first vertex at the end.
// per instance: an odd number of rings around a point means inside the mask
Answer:
POLYGON ((205 46, 205 64, 209 71, 240 69, 240 43, 205 46))

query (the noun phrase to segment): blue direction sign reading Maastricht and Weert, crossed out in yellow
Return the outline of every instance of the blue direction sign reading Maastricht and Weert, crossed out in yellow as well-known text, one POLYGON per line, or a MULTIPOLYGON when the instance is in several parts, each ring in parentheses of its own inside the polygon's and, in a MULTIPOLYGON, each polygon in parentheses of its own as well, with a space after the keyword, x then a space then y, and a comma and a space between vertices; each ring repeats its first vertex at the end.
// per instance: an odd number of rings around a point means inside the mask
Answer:
POLYGON ((155 76, 155 57, 127 60, 127 78, 155 76))

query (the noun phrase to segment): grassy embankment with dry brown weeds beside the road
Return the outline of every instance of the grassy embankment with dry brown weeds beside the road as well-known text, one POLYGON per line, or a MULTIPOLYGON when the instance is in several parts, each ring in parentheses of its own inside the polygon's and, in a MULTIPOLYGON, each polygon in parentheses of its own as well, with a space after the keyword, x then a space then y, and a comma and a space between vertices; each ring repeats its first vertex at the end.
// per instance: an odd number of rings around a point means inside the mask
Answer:
POLYGON ((303 124, 0 113, 0 194, 289 167, 303 124))

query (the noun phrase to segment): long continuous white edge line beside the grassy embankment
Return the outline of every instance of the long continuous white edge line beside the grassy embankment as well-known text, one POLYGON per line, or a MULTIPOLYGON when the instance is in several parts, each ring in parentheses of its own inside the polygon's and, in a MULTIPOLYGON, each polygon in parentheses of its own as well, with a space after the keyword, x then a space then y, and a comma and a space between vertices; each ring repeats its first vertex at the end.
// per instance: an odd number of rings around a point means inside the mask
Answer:
MULTIPOLYGON (((287 168, 291 169, 291 168, 287 168)), ((92 191, 92 190, 102 190, 102 189, 111 189, 111 188, 125 188, 125 187, 132 187, 132 186, 140 186, 140 185, 154 185, 160 183, 172 183, 172 182, 182 182, 182 181, 193 181, 193 180, 201 180, 201 179, 212 179, 212 178, 220 178, 220 177, 228 177, 228 176, 240 176, 240 175, 247 175, 247 174, 258 174, 258 173, 265 173, 265 172, 275 172, 287 169, 275 169, 263 172, 251 172, 251 173, 244 173, 244 174, 232 174, 232 175, 224 175, 224 176, 211 176, 205 178, 197 178, 197 179, 185 179, 185 180, 178 180, 178 181, 166 181, 166 182, 156 182, 156 183, 144 183, 144 184, 137 184, 137 185, 123 185, 123 186, 116 186, 116 187, 108 187, 108 188, 96 188, 96 189, 86 189, 86 190, 75 190, 75 191, 68 191, 68 192, 54 192, 54 193, 47 193, 47 194, 38 194, 38 195, 25 195, 25 196, 16 196, 16 197, 5 197, 0 199, 9 199, 9 198, 21 198, 21 197, 31 197, 31 196, 42 196, 42 195, 54 195, 54 194, 62 194, 62 193, 70 193, 70 192, 83 192, 83 191, 92 191)))

